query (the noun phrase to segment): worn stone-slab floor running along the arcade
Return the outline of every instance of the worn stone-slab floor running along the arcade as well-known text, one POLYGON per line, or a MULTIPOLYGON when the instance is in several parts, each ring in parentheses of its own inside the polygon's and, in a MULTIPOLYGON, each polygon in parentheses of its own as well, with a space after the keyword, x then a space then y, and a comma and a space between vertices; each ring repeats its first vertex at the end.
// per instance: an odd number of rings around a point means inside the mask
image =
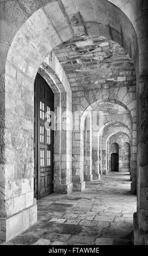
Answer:
POLYGON ((89 181, 83 192, 38 201, 38 222, 3 245, 131 245, 136 197, 128 173, 89 181))

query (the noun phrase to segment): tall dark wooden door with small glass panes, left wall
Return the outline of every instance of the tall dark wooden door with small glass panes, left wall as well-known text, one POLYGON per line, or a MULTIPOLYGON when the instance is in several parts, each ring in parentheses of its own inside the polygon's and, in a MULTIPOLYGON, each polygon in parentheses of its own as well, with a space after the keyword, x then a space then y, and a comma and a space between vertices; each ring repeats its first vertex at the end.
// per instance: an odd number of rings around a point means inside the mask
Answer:
POLYGON ((37 199, 53 193, 53 131, 45 129, 50 111, 54 111, 54 94, 37 74, 34 83, 34 197, 37 199))

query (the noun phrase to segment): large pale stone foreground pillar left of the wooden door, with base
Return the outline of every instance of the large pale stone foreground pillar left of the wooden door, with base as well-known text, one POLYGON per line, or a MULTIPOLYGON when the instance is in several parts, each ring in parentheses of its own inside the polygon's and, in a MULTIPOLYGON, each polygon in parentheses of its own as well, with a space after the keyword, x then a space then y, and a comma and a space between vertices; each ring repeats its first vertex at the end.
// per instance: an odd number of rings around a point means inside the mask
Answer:
POLYGON ((34 81, 8 63, 1 92, 0 240, 37 221, 34 199, 34 81))

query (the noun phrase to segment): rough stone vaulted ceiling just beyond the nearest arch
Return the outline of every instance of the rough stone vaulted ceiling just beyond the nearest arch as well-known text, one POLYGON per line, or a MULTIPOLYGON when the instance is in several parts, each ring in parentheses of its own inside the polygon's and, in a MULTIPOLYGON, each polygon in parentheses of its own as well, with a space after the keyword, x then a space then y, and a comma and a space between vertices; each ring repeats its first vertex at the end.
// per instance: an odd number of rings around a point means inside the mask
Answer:
POLYGON ((104 36, 78 36, 54 51, 73 91, 135 86, 135 70, 128 54, 104 36), (127 71, 128 81, 118 78, 124 77, 127 71))

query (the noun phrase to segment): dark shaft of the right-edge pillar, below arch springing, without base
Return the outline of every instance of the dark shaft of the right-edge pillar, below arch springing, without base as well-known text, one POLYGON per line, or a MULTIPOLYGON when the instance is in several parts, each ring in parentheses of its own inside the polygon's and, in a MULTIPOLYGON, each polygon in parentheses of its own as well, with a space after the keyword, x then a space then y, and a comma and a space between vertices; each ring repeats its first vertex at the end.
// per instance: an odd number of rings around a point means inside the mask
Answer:
MULTIPOLYGON (((142 63, 141 63, 142 65, 142 63)), ((148 232, 148 75, 139 77, 138 90, 138 225, 148 232)))

